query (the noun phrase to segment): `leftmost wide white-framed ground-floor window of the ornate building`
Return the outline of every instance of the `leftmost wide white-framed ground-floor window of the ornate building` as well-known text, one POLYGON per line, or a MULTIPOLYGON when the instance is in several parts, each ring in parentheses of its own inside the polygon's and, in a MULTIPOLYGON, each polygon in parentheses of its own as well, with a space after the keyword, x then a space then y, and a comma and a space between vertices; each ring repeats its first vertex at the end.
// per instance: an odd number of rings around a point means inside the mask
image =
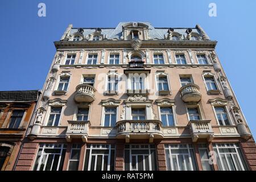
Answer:
POLYGON ((67 146, 43 144, 39 146, 34 171, 62 171, 67 146))

